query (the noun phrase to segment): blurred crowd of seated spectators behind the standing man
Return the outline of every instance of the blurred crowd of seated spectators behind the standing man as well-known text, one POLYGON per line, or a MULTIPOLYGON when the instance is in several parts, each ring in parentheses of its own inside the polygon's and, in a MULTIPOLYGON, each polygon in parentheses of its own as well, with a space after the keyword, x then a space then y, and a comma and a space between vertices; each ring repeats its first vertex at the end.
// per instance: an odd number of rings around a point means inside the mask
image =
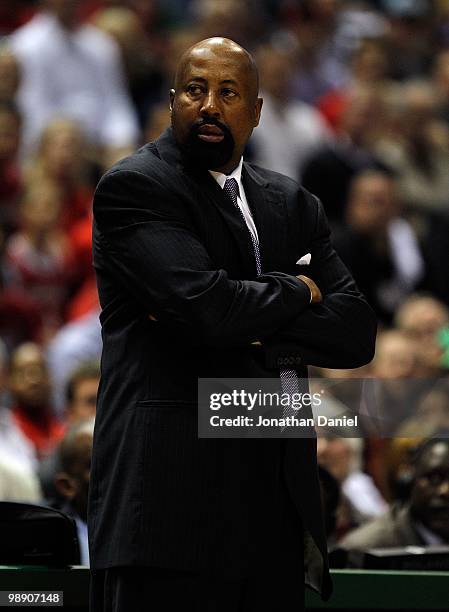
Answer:
POLYGON ((169 125, 178 58, 217 35, 260 69, 246 159, 321 199, 379 319, 370 366, 314 372, 336 414, 359 379, 376 398, 365 438, 318 440, 329 546, 449 544, 449 0, 1 3, 0 500, 73 516, 88 563, 92 196, 169 125))

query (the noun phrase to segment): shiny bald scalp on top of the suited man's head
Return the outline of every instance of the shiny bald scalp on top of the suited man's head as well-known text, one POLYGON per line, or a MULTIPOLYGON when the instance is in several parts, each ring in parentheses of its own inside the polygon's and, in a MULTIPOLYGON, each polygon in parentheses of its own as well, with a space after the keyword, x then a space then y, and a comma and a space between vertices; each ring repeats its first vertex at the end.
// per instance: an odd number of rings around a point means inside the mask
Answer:
POLYGON ((186 68, 195 59, 207 58, 213 54, 217 59, 234 61, 240 68, 246 69, 248 88, 254 99, 259 93, 259 71, 254 58, 246 49, 229 38, 206 38, 187 49, 179 60, 175 74, 175 91, 182 87, 186 68))

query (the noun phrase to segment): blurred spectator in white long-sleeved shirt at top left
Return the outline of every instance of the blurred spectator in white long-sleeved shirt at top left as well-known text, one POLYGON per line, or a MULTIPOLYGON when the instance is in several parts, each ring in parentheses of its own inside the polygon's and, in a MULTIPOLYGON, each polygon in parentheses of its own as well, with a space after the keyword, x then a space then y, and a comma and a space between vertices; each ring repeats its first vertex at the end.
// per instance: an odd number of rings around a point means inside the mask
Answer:
POLYGON ((46 0, 45 9, 11 36, 23 76, 25 147, 36 143, 54 115, 64 115, 104 147, 109 162, 137 141, 119 51, 109 36, 80 22, 79 2, 46 0))

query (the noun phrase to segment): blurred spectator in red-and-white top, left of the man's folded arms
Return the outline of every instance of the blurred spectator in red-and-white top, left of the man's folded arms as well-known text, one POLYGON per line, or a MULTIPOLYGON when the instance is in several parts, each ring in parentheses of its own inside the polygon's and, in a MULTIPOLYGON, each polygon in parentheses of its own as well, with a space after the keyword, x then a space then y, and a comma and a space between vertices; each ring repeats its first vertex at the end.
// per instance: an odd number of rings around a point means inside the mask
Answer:
POLYGON ((49 183, 28 189, 20 209, 20 231, 6 243, 6 285, 34 300, 43 323, 43 340, 60 327, 71 275, 65 236, 58 229, 60 192, 49 183))

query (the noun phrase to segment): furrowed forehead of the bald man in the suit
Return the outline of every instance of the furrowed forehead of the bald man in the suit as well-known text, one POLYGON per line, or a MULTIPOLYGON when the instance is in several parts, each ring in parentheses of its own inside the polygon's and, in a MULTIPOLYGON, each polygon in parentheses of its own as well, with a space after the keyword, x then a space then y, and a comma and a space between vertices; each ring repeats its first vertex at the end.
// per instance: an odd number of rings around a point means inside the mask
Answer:
POLYGON ((181 69, 181 82, 193 78, 206 81, 233 80, 247 85, 250 80, 248 60, 243 53, 235 50, 194 49, 185 59, 181 69))

